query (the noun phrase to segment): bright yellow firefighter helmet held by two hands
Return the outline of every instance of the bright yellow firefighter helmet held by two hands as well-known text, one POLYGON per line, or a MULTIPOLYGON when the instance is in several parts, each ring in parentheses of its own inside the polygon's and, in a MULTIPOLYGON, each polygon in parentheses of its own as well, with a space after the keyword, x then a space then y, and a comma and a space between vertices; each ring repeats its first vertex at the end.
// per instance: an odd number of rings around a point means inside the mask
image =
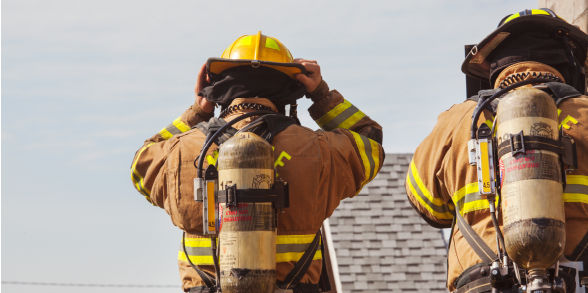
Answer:
POLYGON ((261 34, 244 35, 229 45, 220 58, 209 58, 206 62, 208 72, 220 74, 237 66, 269 67, 290 78, 306 73, 304 67, 292 63, 290 50, 278 39, 261 34))

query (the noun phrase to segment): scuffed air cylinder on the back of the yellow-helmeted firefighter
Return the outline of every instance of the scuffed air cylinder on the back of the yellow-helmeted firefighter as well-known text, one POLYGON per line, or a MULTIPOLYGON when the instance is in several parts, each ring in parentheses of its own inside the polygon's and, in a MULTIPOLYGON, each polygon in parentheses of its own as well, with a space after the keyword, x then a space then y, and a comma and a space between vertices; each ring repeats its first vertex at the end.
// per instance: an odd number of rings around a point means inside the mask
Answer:
MULTIPOLYGON (((219 189, 271 189, 272 146, 251 132, 237 133, 219 150, 219 189)), ((219 204, 219 266, 223 292, 274 292, 276 213, 271 203, 219 204)))

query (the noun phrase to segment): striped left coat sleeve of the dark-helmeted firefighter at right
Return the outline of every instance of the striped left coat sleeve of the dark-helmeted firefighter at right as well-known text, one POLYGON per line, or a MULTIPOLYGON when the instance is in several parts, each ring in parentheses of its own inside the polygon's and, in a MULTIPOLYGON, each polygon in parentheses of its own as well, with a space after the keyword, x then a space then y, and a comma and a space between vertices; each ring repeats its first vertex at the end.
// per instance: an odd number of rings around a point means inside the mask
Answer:
POLYGON ((406 176, 406 194, 416 211, 437 228, 451 226, 454 204, 443 187, 443 161, 451 148, 455 107, 441 113, 431 133, 414 152, 406 176))

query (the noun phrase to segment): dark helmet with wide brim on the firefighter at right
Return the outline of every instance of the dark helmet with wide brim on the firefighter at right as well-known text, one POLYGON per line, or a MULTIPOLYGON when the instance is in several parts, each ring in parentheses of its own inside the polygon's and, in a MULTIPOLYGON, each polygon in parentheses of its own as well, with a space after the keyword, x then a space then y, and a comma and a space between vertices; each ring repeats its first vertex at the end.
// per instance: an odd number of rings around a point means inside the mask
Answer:
POLYGON ((506 66, 537 61, 563 71, 567 83, 585 92, 587 48, 588 35, 553 11, 524 10, 504 17, 494 32, 470 50, 461 70, 490 79, 492 84, 506 66))

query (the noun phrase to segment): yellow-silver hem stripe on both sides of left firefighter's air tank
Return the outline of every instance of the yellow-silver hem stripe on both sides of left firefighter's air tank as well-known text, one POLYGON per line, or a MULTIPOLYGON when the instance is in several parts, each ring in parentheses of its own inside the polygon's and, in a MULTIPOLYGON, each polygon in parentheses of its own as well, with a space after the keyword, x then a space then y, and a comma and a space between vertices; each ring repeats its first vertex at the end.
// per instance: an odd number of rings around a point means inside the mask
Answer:
MULTIPOLYGON (((276 238, 276 262, 298 261, 314 240, 315 234, 278 235, 276 238)), ((195 265, 212 265, 212 250, 210 238, 186 238, 186 251, 190 261, 195 265)), ((322 259, 318 249, 313 260, 322 259)), ((178 252, 178 260, 188 261, 183 249, 178 252)))

